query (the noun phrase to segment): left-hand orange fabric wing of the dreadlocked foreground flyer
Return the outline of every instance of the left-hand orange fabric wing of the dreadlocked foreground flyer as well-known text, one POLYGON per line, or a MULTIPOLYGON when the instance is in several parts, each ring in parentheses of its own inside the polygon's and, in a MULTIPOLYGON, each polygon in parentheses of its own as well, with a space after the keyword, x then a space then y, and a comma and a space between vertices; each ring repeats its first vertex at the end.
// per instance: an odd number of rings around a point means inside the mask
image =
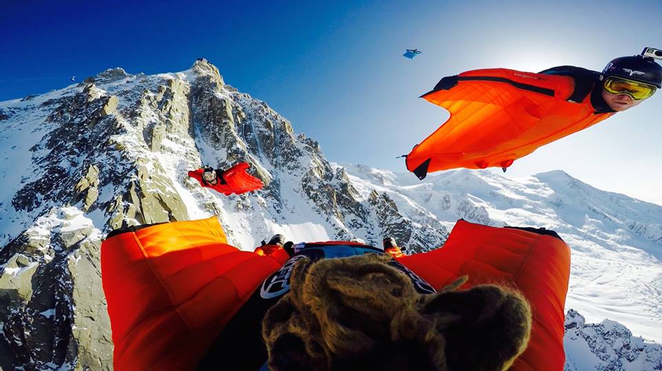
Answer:
POLYGON ((112 235, 101 245, 101 279, 114 369, 194 369, 286 258, 228 245, 216 217, 112 235))

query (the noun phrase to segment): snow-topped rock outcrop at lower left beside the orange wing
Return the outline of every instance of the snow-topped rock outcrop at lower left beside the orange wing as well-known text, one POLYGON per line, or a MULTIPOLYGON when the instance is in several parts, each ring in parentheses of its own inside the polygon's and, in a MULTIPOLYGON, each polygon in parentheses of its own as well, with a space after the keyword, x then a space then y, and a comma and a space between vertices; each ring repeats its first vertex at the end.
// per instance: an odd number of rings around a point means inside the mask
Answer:
POLYGON ((0 367, 112 369, 110 321, 97 289, 100 247, 101 233, 92 222, 75 208, 63 208, 3 248, 0 367))

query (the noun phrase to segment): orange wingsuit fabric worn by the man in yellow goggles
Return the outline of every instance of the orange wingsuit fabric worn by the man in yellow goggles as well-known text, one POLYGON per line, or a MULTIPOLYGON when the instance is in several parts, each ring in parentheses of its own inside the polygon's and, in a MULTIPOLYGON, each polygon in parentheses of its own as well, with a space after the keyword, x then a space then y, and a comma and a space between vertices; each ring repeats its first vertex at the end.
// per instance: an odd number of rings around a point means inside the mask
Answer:
POLYGON ((505 69, 474 70, 442 79, 422 98, 448 109, 450 118, 406 156, 420 179, 431 171, 510 167, 538 147, 612 116, 594 114, 569 76, 505 69))

